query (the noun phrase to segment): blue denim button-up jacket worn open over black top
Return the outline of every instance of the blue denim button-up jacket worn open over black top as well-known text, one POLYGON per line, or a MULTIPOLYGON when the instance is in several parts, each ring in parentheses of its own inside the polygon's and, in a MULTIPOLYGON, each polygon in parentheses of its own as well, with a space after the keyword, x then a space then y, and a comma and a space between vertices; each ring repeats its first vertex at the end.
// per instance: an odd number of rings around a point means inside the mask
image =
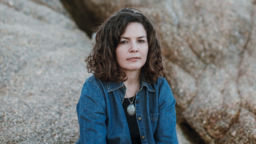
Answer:
MULTIPOLYGON (((86 80, 77 104, 77 144, 131 143, 122 107, 125 91, 123 82, 103 82, 94 75, 86 80)), ((175 99, 165 78, 158 78, 155 84, 140 80, 134 103, 143 144, 178 143, 175 99)))

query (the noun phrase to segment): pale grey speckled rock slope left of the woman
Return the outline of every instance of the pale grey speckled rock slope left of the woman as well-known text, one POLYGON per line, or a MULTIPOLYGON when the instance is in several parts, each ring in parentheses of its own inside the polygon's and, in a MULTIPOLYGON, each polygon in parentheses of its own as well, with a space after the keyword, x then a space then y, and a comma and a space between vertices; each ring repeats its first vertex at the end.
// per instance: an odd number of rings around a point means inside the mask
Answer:
POLYGON ((91 41, 58 0, 0 0, 0 143, 75 143, 91 41))

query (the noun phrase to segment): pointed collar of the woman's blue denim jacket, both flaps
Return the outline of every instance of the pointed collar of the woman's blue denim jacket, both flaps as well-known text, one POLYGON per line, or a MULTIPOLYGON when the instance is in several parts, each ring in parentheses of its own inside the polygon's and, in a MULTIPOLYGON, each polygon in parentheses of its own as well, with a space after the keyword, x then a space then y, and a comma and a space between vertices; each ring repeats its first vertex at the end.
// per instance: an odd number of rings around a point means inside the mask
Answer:
MULTIPOLYGON (((119 82, 119 83, 107 82, 108 92, 117 90, 118 88, 121 88, 122 86, 124 86, 123 82, 119 82)), ((143 86, 146 86, 148 91, 151 91, 151 92, 155 91, 154 88, 152 87, 151 83, 144 82, 144 81, 140 80, 140 90, 142 89, 143 86)))

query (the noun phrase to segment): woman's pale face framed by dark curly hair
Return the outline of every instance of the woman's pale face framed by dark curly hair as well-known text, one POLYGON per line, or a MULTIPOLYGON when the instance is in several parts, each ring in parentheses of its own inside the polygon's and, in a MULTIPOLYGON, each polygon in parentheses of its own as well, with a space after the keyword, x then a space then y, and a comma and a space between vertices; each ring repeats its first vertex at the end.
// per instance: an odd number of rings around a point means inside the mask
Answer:
POLYGON ((148 55, 147 32, 141 23, 129 23, 116 48, 116 59, 124 72, 140 71, 148 55))

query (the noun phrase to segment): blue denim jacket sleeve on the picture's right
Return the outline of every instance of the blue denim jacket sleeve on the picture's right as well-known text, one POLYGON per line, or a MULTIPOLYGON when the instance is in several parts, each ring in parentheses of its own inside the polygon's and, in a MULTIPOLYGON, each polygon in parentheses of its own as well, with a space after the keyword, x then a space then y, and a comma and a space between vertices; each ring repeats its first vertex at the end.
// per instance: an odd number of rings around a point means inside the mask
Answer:
POLYGON ((159 84, 159 118, 154 134, 156 144, 178 144, 175 103, 171 88, 164 78, 159 84))

